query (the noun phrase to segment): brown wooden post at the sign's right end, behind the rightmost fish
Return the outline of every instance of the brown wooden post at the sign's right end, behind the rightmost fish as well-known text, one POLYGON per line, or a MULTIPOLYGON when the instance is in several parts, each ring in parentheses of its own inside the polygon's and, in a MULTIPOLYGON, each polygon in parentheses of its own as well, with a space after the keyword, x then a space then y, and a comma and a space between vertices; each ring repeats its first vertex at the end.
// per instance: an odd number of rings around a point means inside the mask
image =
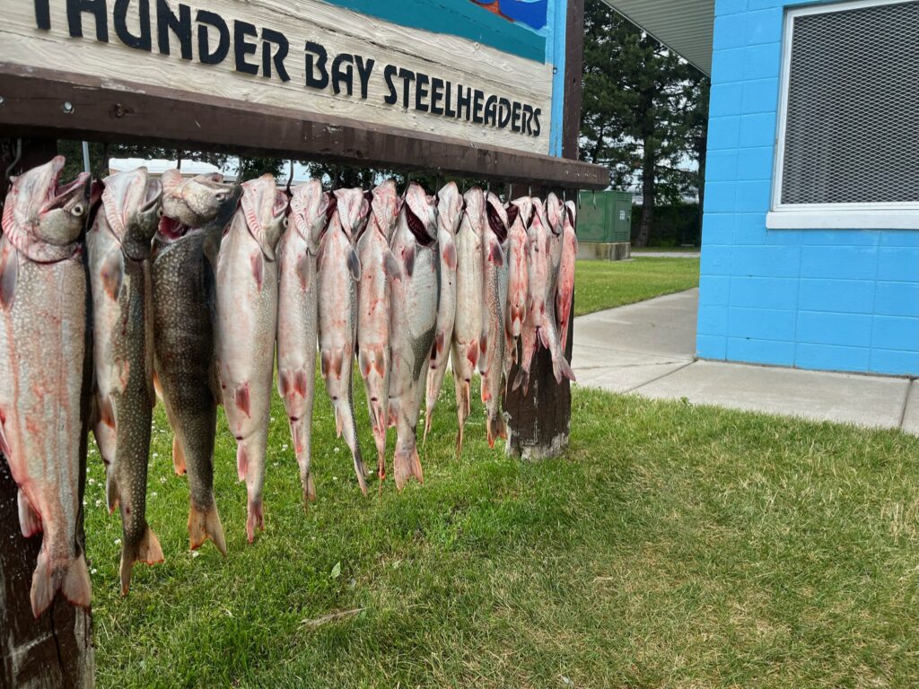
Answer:
MULTIPOLYGON (((562 157, 578 158, 578 137, 581 131, 581 79, 584 72, 584 0, 568 0, 565 40, 565 93, 562 119, 562 157)), ((514 196, 512 189, 511 198, 514 196)), ((534 186, 534 193, 536 186, 534 186)), ((541 193, 541 192, 539 192, 541 193)), ((576 198, 575 192, 575 198, 576 198)), ((519 195, 519 192, 518 194, 519 195)), ((574 304, 572 303, 572 313, 574 304)), ((573 322, 570 319, 565 356, 571 360, 573 322)), ((539 348, 530 368, 529 390, 511 390, 516 378, 516 365, 508 374, 504 409, 507 414, 507 453, 523 459, 536 460, 555 457, 568 446, 571 433, 571 383, 562 379, 556 383, 552 375, 552 357, 539 348)))

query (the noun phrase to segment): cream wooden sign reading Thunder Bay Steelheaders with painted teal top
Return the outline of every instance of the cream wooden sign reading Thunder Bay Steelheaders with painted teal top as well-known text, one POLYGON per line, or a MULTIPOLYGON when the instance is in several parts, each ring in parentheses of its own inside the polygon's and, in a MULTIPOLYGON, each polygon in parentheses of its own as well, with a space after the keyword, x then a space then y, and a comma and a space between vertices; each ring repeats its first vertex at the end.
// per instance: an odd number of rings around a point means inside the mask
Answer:
POLYGON ((0 62, 560 155, 563 5, 6 0, 0 62))

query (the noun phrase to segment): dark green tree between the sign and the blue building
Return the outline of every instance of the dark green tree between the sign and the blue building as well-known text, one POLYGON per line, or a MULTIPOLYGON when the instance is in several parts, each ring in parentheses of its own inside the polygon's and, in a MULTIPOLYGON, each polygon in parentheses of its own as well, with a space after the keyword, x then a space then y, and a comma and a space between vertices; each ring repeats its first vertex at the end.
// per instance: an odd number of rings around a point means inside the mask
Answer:
POLYGON ((609 168, 610 184, 641 182, 636 245, 650 238, 659 199, 701 184, 709 80, 601 0, 584 6, 584 157, 609 168))

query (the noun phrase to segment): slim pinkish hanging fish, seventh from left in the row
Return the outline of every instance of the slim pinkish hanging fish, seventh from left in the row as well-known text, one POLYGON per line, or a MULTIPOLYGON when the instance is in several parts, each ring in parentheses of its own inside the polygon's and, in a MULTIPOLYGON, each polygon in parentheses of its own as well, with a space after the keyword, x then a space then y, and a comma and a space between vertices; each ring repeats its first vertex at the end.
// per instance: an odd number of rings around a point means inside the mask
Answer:
POLYGON ((390 239, 402 202, 396 183, 387 180, 373 190, 369 221, 357 239, 360 282, 357 283, 357 363, 367 389, 377 474, 386 478, 386 430, 390 401, 390 283, 402 274, 390 251, 390 239))

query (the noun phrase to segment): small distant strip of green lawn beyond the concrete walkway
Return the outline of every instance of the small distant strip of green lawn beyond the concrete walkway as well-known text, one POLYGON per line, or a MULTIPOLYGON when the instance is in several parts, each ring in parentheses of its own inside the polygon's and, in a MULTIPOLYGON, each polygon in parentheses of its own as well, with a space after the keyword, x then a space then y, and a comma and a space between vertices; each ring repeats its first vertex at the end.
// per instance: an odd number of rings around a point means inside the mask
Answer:
POLYGON ((698 258, 636 258, 633 261, 578 261, 574 315, 698 287, 698 258))

